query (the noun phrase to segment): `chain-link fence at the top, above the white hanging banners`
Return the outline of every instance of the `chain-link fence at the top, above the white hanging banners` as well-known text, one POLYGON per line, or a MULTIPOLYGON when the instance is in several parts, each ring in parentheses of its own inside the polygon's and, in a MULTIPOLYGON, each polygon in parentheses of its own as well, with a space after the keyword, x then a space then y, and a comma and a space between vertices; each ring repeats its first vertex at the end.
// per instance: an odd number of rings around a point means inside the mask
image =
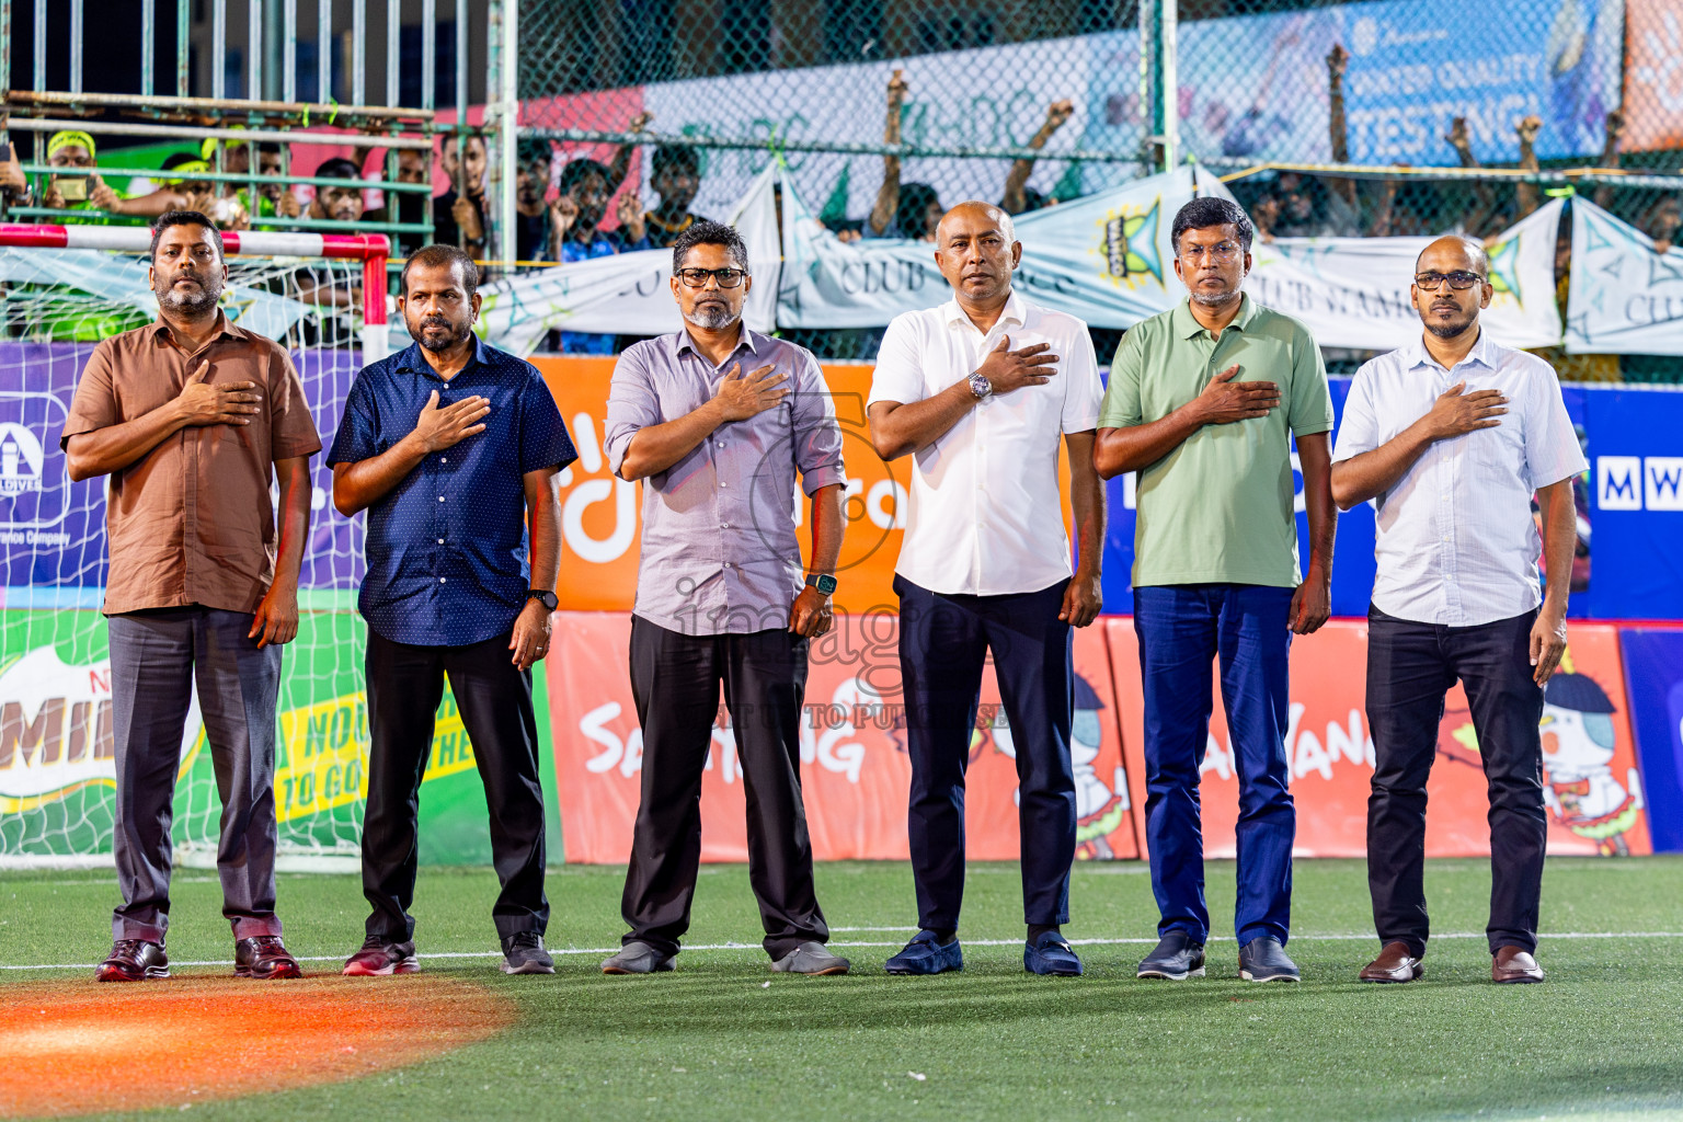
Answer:
POLYGON ((1569 187, 1661 247, 1683 220, 1680 0, 520 0, 520 29, 525 153, 596 160, 656 244, 778 155, 843 239, 1188 158, 1266 236, 1493 236, 1569 187))

